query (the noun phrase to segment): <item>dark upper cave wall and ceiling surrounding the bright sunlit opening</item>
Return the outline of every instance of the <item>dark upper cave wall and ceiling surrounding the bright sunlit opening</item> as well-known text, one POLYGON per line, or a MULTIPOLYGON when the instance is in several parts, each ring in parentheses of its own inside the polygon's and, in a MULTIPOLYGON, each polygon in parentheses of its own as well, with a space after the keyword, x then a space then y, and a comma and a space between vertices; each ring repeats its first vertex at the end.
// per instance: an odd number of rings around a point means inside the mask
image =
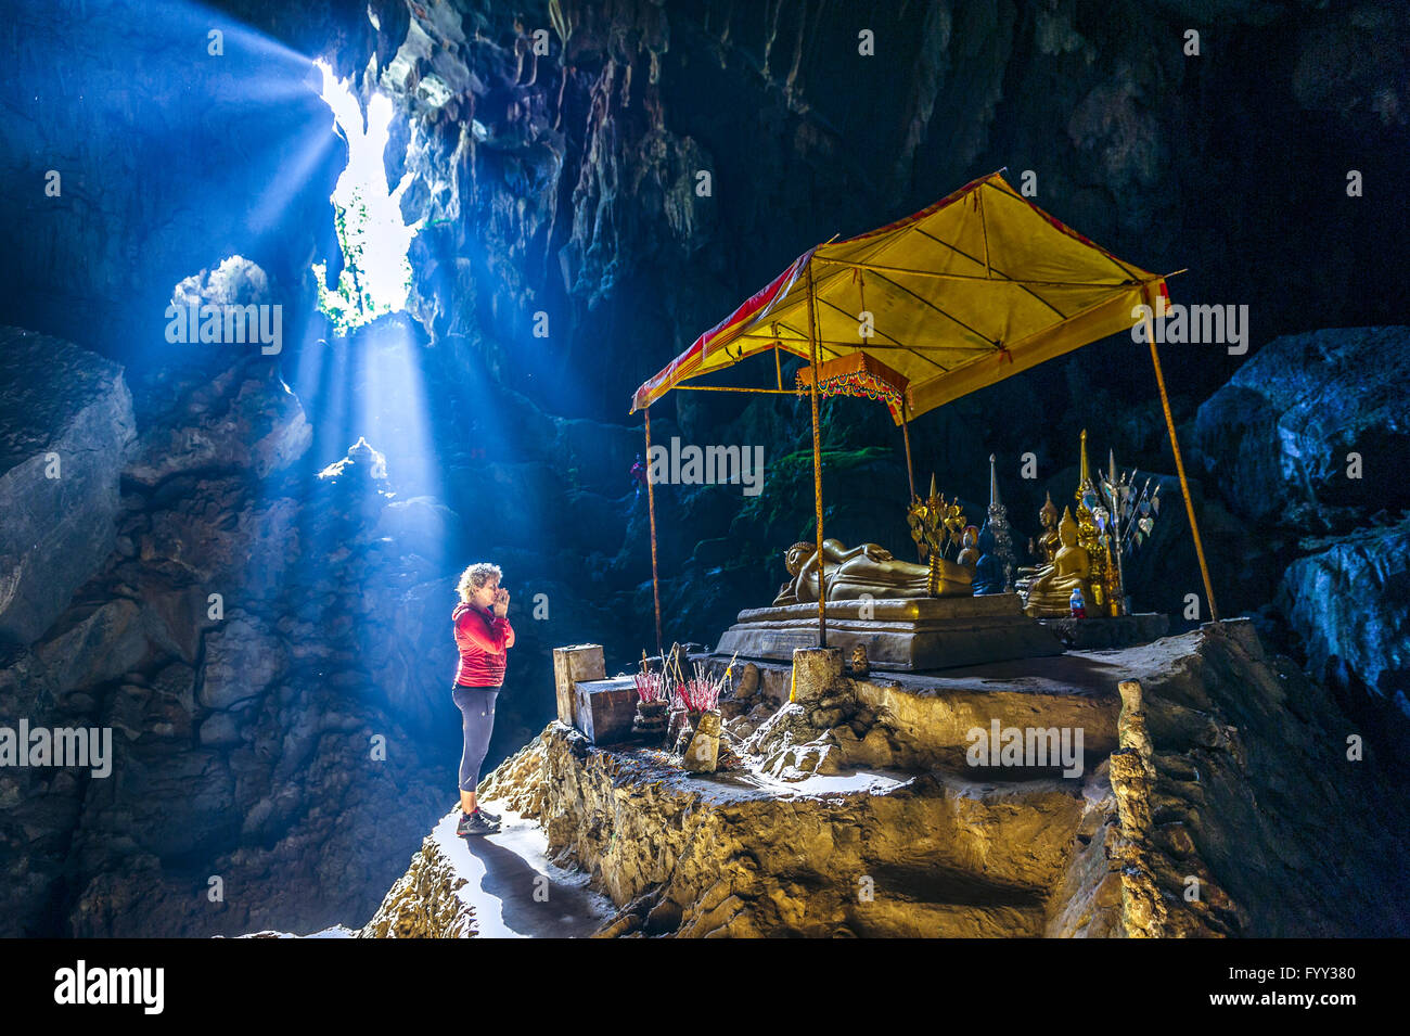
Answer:
MULTIPOLYGON (((307 262, 336 255, 337 148, 285 185, 286 218, 262 204, 329 124, 296 55, 344 75, 375 55, 385 72, 413 21, 426 56, 381 79, 431 140, 407 207, 446 220, 417 244, 419 316, 553 412, 619 420, 623 386, 804 248, 1000 166, 1036 172, 1038 203, 1117 254, 1187 268, 1177 302, 1249 304, 1255 348, 1389 323, 1403 302, 1362 289, 1368 264, 1385 283, 1407 272, 1404 206, 1389 203, 1404 186, 1399 6, 540 3, 516 8, 522 32, 496 4, 372 7, 379 31, 362 4, 227 3, 204 18, 171 4, 145 20, 120 3, 18 4, 0 319, 162 362, 151 331, 169 285, 235 251, 306 303, 307 262), (241 23, 281 42, 255 47, 241 23), (221 58, 210 24, 227 28, 221 58), (876 56, 856 54, 863 27, 876 56), (551 56, 520 62, 534 28, 551 56), (1182 54, 1187 28, 1198 58, 1182 54), (451 92, 436 107, 430 75, 451 92), (470 118, 485 140, 461 132, 470 118), (44 197, 49 168, 62 199, 44 197), (713 173, 711 199, 689 190, 697 169, 713 173), (1348 169, 1365 197, 1347 197, 1348 169), (539 309, 547 341, 529 334, 539 309), (571 392, 550 383, 564 372, 571 392)), ((1239 361, 1167 362, 1203 399, 1239 361)))

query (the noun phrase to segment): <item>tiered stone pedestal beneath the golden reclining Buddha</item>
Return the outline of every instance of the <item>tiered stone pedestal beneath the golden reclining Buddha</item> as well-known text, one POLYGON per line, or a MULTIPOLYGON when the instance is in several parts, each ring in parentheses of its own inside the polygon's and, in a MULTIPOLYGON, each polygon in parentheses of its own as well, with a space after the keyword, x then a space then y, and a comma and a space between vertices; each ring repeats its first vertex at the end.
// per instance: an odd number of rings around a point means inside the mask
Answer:
MULTIPOLYGON (((791 661, 795 648, 816 644, 816 605, 756 608, 739 613, 715 654, 791 661)), ((1017 593, 829 602, 828 647, 849 657, 857 644, 881 671, 945 670, 1063 650, 1056 636, 1024 615, 1017 593)))

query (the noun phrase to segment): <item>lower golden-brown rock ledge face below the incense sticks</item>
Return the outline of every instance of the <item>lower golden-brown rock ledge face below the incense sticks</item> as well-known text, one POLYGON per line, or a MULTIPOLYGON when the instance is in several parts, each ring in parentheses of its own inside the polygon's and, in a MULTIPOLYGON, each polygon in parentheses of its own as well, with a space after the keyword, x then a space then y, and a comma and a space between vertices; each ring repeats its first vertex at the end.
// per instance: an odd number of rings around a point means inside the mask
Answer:
POLYGON ((647 935, 1036 935, 1041 895, 1024 889, 1062 871, 1080 812, 1053 781, 916 778, 883 794, 774 798, 639 753, 580 758, 558 726, 543 741, 550 853, 577 860, 619 906, 650 894, 647 935), (1004 905, 974 906, 980 889, 1004 905))

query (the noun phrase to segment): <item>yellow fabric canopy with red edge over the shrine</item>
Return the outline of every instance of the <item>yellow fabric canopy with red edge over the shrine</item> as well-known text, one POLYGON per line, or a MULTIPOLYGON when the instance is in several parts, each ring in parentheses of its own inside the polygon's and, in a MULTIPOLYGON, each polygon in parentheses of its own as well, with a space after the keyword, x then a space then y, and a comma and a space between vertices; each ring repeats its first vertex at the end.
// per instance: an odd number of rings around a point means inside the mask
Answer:
POLYGON ((809 280, 819 362, 860 351, 900 372, 909 385, 907 414, 893 410, 898 424, 1127 331, 1136 306, 1160 314, 1167 299, 1163 276, 1118 259, 991 173, 798 257, 644 382, 632 410, 776 343, 808 358, 809 280))

